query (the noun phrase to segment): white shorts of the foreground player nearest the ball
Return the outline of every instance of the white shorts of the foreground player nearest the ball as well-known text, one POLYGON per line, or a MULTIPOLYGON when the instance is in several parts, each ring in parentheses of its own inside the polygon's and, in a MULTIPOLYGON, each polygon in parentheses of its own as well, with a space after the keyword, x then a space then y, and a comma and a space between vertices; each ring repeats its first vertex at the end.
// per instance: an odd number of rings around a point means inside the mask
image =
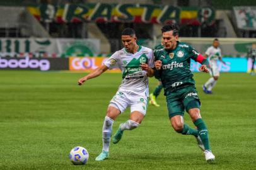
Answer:
POLYGON ((117 91, 108 106, 117 108, 121 113, 124 112, 127 107, 131 106, 131 113, 132 111, 139 111, 143 113, 143 115, 146 115, 148 97, 131 91, 117 91))

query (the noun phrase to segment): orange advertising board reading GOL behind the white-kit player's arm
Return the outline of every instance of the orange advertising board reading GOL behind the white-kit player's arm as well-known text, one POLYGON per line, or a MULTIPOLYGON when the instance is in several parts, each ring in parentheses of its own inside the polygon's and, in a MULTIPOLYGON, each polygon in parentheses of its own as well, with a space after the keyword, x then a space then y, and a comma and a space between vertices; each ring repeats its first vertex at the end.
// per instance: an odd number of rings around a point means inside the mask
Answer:
MULTIPOLYGON (((70 71, 92 71, 103 65, 108 57, 69 57, 70 71)), ((119 69, 112 69, 108 72, 120 72, 119 69)))

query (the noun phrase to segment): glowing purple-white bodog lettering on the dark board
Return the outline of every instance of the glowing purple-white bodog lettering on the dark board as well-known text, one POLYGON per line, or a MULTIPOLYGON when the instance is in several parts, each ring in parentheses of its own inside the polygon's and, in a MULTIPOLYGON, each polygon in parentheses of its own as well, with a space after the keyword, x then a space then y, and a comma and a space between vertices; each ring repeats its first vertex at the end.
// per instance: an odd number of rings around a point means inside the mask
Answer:
POLYGON ((45 59, 30 59, 30 57, 22 59, 3 59, 0 57, 0 68, 40 69, 40 71, 48 71, 50 69, 50 61, 45 59))

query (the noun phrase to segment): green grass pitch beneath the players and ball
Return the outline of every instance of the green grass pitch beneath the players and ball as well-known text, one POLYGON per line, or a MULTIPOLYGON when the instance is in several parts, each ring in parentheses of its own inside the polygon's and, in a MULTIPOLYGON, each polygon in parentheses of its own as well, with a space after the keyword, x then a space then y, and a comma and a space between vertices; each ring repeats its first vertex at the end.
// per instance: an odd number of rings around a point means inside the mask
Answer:
MULTIPOLYGON (((83 73, 0 71, 0 169, 256 169, 256 76, 221 74, 214 94, 202 93, 209 74, 197 73, 201 114, 209 128, 216 164, 207 164, 194 137, 171 127, 163 93, 161 107, 148 107, 141 127, 102 150, 102 125, 120 74, 103 74, 78 86, 83 73), (81 145, 88 164, 74 166, 69 152, 81 145)), ((150 79, 153 90, 157 81, 150 79)), ((113 132, 129 118, 120 115, 113 132)), ((185 122, 193 126, 189 116, 185 122)))

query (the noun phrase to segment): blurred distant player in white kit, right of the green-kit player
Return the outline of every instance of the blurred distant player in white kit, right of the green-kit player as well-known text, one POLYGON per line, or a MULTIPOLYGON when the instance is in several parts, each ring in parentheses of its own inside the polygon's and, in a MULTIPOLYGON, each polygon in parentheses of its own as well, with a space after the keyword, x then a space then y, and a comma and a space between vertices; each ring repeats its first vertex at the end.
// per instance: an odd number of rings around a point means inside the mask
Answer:
POLYGON ((217 62, 220 60, 223 64, 226 64, 221 57, 221 48, 219 48, 218 38, 215 38, 212 42, 212 46, 207 48, 206 57, 209 57, 211 67, 209 72, 212 77, 202 86, 202 89, 204 93, 212 94, 212 88, 214 88, 219 78, 219 67, 217 62))

